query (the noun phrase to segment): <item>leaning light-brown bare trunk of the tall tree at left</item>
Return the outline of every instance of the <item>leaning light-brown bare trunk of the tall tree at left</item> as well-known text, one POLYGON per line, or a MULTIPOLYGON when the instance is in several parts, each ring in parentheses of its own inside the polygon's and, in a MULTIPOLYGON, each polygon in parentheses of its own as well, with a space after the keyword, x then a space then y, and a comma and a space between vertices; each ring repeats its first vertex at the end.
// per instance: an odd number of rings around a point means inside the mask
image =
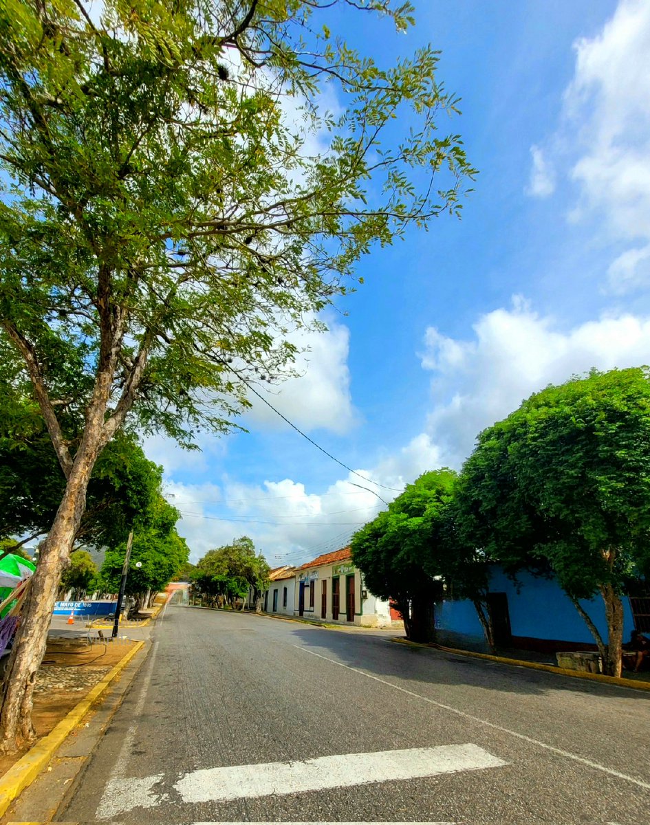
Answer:
POLYGON ((95 439, 86 432, 75 456, 73 470, 54 523, 41 544, 39 563, 29 596, 21 611, 12 654, 7 664, 5 691, 0 712, 0 752, 12 753, 35 739, 31 724, 32 697, 36 673, 45 654, 49 623, 56 601, 61 573, 69 563, 74 537, 86 506, 86 490, 97 459, 101 422, 96 422, 95 439), (92 442, 95 442, 94 444, 92 442))

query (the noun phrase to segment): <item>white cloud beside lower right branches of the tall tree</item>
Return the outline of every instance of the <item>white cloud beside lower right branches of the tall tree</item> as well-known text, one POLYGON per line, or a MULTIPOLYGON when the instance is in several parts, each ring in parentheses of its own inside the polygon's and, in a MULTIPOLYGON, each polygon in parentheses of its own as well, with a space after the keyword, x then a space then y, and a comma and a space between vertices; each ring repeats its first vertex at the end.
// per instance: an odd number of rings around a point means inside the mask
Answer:
MULTIPOLYGON (((273 389, 265 384, 256 389, 276 409, 302 429, 344 433, 356 422, 350 393, 350 331, 341 323, 330 322, 327 332, 299 330, 287 338, 301 351, 294 368, 297 378, 283 380, 273 389)), ((252 410, 244 424, 265 429, 280 429, 287 425, 265 403, 251 396, 252 410)))

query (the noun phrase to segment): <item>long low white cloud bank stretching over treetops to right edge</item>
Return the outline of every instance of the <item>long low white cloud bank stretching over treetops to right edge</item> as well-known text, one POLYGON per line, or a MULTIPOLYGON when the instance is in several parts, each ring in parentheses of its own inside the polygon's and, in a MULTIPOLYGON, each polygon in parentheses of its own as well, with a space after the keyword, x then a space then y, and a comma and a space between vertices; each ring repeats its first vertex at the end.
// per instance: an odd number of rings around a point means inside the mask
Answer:
POLYGON ((186 513, 181 535, 194 560, 247 534, 273 566, 307 561, 346 544, 352 532, 385 507, 381 499, 390 501, 426 470, 445 464, 459 468, 478 432, 530 394, 591 367, 641 365, 648 356, 650 318, 603 316, 561 329, 521 298, 508 309, 480 316, 468 340, 428 328, 421 361, 433 374, 431 411, 422 432, 400 450, 356 468, 370 481, 346 474, 321 490, 309 490, 307 479, 265 479, 257 485, 237 479, 171 483, 172 501, 186 513))

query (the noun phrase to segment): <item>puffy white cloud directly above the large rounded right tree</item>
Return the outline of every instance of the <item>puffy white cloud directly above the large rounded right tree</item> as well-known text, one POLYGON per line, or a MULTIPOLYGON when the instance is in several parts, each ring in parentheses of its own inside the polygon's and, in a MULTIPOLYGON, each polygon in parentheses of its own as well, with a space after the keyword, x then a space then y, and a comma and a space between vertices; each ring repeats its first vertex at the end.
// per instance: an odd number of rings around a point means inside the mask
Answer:
POLYGON ((433 370, 434 407, 427 421, 444 464, 459 466, 478 433, 515 410, 547 384, 591 367, 611 370, 648 363, 650 318, 603 317, 566 332, 524 300, 473 325, 470 341, 426 331, 422 366, 433 370))

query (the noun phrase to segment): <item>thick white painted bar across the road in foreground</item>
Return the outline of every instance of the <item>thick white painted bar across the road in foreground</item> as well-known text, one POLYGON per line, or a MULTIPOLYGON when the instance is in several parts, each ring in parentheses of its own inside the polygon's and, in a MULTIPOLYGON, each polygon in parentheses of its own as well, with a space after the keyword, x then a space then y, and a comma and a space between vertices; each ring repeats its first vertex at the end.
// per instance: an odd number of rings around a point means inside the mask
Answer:
POLYGON ((506 764, 478 745, 412 747, 403 751, 348 753, 295 762, 208 768, 191 771, 174 788, 186 803, 228 802, 478 771, 506 764))

